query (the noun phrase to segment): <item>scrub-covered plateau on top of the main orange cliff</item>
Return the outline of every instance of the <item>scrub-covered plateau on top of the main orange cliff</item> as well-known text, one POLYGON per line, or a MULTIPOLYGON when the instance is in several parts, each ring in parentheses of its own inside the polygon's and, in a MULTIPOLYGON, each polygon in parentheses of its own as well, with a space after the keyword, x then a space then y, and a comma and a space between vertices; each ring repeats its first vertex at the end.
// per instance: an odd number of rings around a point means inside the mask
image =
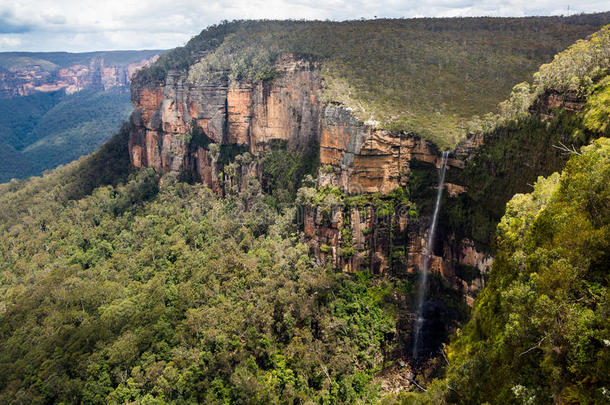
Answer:
POLYGON ((462 124, 493 109, 515 83, 610 22, 610 15, 236 21, 212 26, 168 52, 140 82, 190 67, 191 80, 264 80, 281 54, 321 63, 327 100, 363 121, 454 145, 462 124), (202 59, 203 58, 203 59, 202 59))

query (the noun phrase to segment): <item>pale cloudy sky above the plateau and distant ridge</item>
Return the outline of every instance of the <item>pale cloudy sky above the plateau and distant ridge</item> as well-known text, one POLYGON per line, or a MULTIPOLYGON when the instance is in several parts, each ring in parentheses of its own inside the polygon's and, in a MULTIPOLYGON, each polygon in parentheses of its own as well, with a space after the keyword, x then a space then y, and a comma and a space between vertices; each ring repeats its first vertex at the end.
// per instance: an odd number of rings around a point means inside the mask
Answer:
POLYGON ((529 16, 609 9, 607 0, 0 0, 0 51, 166 49, 225 19, 529 16))

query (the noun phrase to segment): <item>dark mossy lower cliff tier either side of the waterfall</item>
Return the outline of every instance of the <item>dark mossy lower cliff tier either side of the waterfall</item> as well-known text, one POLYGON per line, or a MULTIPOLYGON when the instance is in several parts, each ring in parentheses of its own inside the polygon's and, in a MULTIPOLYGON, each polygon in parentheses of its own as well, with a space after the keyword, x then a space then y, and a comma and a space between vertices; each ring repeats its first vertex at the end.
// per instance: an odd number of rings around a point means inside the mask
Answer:
MULTIPOLYGON (((338 203, 303 207, 303 229, 312 252, 346 272, 414 274, 421 270, 430 218, 416 217, 408 205, 389 200, 360 207, 338 203), (387 207, 390 206, 390 211, 387 207)), ((438 233, 429 271, 439 274, 472 303, 483 288, 493 258, 468 239, 438 233)))

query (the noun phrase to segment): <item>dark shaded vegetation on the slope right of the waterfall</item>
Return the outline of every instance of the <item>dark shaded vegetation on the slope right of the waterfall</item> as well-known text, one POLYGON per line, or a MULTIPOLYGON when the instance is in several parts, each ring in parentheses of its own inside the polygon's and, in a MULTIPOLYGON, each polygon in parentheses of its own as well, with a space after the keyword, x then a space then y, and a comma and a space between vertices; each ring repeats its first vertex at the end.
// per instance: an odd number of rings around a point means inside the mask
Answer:
MULTIPOLYGON (((539 175, 560 170, 568 156, 553 145, 568 142, 564 134, 580 128, 580 118, 569 113, 551 122, 528 116, 496 128, 463 171, 447 171, 447 181, 464 185, 468 192, 455 198, 443 196, 440 224, 458 237, 473 240, 479 251, 491 252, 506 202, 516 193, 530 191, 529 184, 539 175)), ((581 141, 568 143, 580 145, 581 141)))

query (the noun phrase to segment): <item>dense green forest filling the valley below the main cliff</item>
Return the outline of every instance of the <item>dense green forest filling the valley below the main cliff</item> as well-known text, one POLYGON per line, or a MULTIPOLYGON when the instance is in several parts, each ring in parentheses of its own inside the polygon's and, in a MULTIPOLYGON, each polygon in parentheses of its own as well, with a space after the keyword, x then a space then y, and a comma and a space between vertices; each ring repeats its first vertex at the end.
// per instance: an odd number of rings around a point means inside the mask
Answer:
POLYGON ((256 182, 141 170, 75 195, 126 132, 0 186, 0 402, 374 401, 392 286, 314 265, 256 182))

